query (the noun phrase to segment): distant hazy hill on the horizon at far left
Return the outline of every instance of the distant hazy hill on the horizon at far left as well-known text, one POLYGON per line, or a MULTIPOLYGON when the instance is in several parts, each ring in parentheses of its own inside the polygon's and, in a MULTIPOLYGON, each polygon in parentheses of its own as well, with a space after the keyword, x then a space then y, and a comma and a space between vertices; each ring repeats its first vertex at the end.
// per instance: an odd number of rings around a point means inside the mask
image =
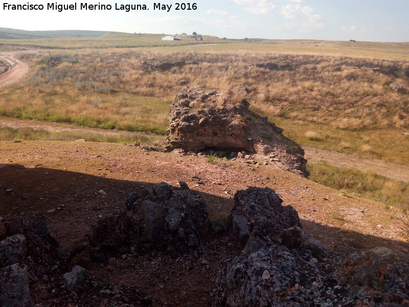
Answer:
POLYGON ((121 33, 121 32, 87 31, 87 30, 26 31, 26 30, 0 27, 0 39, 33 39, 33 38, 73 37, 73 36, 99 37, 107 33, 121 33))

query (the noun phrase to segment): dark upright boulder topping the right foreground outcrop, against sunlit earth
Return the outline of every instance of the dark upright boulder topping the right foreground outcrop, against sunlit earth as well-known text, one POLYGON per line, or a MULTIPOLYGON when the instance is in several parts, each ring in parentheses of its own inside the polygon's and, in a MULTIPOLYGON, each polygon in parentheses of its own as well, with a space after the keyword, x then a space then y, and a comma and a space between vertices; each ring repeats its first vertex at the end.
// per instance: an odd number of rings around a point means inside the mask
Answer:
POLYGON ((301 229, 297 211, 291 206, 282 206, 283 200, 268 187, 237 191, 234 201, 232 231, 243 246, 253 231, 280 243, 284 230, 301 229))

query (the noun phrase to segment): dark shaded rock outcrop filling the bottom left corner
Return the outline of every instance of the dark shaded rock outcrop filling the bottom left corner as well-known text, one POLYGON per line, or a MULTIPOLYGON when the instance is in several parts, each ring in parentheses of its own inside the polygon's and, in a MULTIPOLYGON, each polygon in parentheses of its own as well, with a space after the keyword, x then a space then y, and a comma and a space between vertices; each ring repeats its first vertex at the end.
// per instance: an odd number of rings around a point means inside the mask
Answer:
POLYGON ((151 299, 137 290, 102 284, 71 265, 69 253, 50 235, 46 217, 5 219, 0 242, 0 306, 134 306, 148 307, 151 299))

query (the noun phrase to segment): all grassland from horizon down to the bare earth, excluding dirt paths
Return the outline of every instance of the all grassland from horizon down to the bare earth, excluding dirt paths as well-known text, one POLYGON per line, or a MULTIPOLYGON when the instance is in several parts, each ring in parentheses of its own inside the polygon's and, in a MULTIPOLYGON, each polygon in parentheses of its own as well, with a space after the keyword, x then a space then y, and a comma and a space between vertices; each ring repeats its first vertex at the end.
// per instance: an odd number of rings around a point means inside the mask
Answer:
MULTIPOLYGON (((0 95, 0 115, 124 130, 105 136, 84 131, 1 128, 9 141, 86 138, 152 144, 163 140, 169 105, 189 86, 251 92, 251 107, 303 146, 401 164, 409 161, 408 43, 321 40, 230 40, 162 34, 0 40, 2 50, 39 48, 23 55, 32 67, 24 82, 0 95), (23 47, 24 48, 24 47, 23 47), (52 48, 52 49, 44 49, 52 48), (166 71, 143 60, 196 61, 166 71), (255 65, 276 63, 268 69, 255 65), (390 89, 393 82, 403 92, 390 89)), ((107 130, 108 131, 108 130, 107 130)), ((325 163, 310 164, 310 179, 384 205, 406 206, 407 183, 325 163)))

